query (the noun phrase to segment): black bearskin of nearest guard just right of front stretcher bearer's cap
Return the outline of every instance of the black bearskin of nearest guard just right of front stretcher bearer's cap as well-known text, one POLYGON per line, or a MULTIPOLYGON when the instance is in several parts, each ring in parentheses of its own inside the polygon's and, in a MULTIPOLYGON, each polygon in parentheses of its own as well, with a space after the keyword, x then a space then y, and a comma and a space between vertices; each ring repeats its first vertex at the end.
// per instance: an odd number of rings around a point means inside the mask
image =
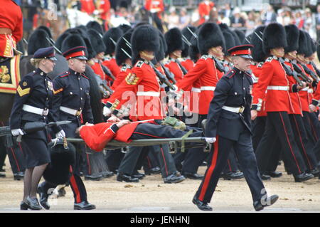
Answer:
POLYGON ((287 35, 280 23, 270 23, 263 31, 263 51, 266 54, 270 54, 270 50, 273 48, 287 47, 287 35))

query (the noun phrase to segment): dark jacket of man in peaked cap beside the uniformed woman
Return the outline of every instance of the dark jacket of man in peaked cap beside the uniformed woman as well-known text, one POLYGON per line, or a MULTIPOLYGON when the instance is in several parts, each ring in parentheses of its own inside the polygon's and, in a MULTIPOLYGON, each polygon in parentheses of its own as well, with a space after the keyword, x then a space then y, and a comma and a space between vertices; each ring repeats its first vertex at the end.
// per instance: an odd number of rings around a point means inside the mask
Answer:
POLYGON ((53 115, 58 120, 78 121, 79 117, 60 110, 60 107, 68 107, 82 111, 83 122, 93 123, 90 106, 90 83, 82 73, 70 69, 58 75, 53 80, 55 97, 53 100, 53 115))

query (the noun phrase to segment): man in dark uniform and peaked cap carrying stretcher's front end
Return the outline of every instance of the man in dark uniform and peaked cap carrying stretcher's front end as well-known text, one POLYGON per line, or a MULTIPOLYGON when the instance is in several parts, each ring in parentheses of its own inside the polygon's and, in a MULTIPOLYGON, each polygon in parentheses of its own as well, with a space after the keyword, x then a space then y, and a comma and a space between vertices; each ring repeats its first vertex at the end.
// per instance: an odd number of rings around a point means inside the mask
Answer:
POLYGON ((250 48, 251 45, 243 45, 228 50, 233 58, 234 68, 219 80, 215 96, 210 102, 205 135, 206 141, 213 143, 213 146, 208 169, 193 197, 193 204, 203 211, 212 210, 208 203, 232 149, 238 154, 255 210, 260 211, 278 199, 277 195, 267 196, 252 148, 250 127, 252 79, 246 72, 250 69, 252 59, 250 48))

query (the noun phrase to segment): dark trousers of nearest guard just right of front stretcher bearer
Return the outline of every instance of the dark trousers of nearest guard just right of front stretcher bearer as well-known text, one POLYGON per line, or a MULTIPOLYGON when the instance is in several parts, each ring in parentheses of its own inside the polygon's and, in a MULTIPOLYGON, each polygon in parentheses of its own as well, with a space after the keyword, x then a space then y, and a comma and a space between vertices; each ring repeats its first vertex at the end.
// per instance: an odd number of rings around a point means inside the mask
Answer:
POLYGON ((299 151, 297 142, 294 139, 292 125, 287 112, 267 113, 265 134, 263 134, 255 152, 260 172, 263 173, 267 170, 268 163, 265 162, 265 160, 270 160, 272 154, 270 151, 274 148, 274 142, 277 141, 278 137, 284 155, 284 162, 287 162, 289 169, 292 169, 292 174, 302 174, 306 171, 306 165, 304 164, 304 159, 299 151))

